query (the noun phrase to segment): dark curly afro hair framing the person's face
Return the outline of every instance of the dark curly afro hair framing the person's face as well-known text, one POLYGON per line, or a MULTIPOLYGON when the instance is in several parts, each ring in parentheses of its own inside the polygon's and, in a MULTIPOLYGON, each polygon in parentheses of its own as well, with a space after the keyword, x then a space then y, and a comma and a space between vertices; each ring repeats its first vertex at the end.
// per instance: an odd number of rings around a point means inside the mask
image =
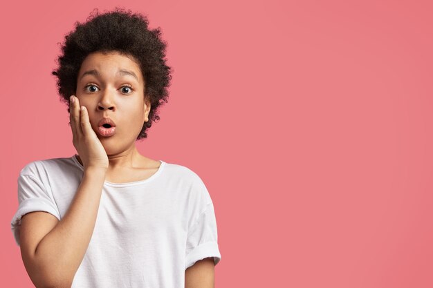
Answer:
POLYGON ((69 32, 62 44, 58 68, 52 72, 57 76, 60 101, 67 104, 68 112, 69 97, 75 95, 78 71, 87 55, 120 52, 137 61, 145 79, 143 97, 149 99, 151 110, 149 121, 143 124, 136 140, 147 137, 147 128, 160 119, 158 108, 167 103, 167 88, 172 79, 172 68, 166 65, 165 59, 167 43, 161 39, 160 28, 150 30, 148 24, 145 16, 122 8, 103 14, 95 9, 85 23, 75 22, 75 31, 69 32))

